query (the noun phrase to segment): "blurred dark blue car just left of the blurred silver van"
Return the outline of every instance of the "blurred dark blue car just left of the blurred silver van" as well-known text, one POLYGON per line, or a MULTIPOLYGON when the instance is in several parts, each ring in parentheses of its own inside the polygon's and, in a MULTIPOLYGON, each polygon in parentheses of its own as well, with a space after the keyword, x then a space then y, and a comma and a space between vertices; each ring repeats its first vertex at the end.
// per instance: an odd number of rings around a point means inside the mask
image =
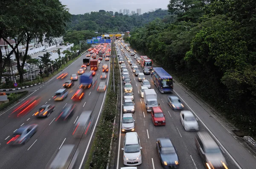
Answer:
POLYGON ((76 110, 75 107, 76 107, 76 104, 66 104, 66 106, 64 106, 62 110, 59 112, 55 121, 58 121, 58 120, 65 121, 70 119, 75 113, 75 110, 76 110))

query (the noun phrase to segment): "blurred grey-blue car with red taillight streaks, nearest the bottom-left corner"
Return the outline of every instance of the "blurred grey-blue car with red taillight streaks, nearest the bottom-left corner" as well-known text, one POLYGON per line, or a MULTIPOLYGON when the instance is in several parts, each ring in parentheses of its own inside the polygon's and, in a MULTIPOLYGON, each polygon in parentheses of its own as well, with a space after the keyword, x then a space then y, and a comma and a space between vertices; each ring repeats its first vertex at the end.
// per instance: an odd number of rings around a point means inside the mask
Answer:
POLYGON ((9 145, 26 144, 32 135, 37 132, 38 124, 23 125, 18 128, 6 143, 9 145))

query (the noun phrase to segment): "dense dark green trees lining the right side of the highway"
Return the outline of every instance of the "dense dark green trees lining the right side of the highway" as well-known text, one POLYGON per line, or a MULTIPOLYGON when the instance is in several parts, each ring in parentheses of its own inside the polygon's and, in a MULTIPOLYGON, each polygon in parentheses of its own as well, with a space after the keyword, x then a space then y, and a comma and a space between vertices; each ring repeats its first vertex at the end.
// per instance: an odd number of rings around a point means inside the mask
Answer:
POLYGON ((175 22, 136 29, 131 46, 255 136, 256 1, 170 0, 168 8, 175 22))

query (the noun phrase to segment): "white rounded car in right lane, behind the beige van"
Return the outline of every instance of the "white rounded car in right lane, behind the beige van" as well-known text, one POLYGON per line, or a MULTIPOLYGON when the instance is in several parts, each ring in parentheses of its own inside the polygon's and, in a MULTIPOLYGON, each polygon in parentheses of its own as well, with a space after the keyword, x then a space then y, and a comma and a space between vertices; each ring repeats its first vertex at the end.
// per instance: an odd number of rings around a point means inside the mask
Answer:
POLYGON ((189 110, 180 111, 180 121, 186 131, 198 131, 198 122, 189 110))

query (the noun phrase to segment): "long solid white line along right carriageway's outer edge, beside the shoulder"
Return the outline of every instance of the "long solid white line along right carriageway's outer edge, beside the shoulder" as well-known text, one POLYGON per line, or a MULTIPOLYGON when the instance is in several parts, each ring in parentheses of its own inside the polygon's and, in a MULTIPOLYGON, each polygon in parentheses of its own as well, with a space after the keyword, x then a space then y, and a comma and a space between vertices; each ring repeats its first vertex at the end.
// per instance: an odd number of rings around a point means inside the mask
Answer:
POLYGON ((215 137, 215 135, 211 132, 211 130, 209 130, 209 128, 204 124, 204 122, 201 120, 201 118, 198 117, 197 114, 195 114, 195 112, 192 110, 192 108, 186 103, 186 101, 184 101, 180 95, 175 91, 173 90, 176 95, 181 99, 181 101, 183 101, 183 103, 186 104, 186 106, 192 111, 192 113, 199 119, 199 121, 204 125, 204 127, 209 131, 209 133, 211 133, 212 137, 218 142, 218 144, 222 147, 222 149, 225 150, 225 152, 230 156, 230 158, 232 159, 232 161, 236 164, 236 166, 239 168, 239 169, 242 169, 241 166, 236 162, 236 160, 233 158, 233 156, 227 151, 227 149, 221 144, 221 142, 215 137))

